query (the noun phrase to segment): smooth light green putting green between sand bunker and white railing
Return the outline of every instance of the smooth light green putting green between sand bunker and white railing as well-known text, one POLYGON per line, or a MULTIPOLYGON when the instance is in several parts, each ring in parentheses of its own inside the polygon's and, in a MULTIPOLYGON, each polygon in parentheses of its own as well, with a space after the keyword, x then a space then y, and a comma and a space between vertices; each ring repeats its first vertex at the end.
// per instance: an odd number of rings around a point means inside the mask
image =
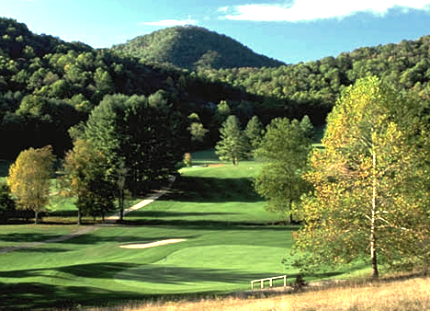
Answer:
MULTIPOLYGON (((142 250, 144 251, 144 250, 142 250)), ((121 271, 115 281, 145 292, 225 291, 249 287, 256 278, 284 274, 280 247, 212 245, 187 247, 153 264, 121 271), (258 273, 255 266, 259 267, 258 273)))

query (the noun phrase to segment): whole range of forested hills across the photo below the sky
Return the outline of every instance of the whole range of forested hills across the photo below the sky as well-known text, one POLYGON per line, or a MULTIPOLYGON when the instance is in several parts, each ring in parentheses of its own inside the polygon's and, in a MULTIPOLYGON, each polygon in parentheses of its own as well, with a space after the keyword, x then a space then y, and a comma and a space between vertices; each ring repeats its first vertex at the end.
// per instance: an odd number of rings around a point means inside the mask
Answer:
MULTIPOLYGON (((137 48, 139 40, 155 40, 160 34, 173 36, 173 41, 188 44, 175 52, 186 59, 190 57, 187 53, 200 48, 180 36, 203 33, 207 38, 222 38, 225 56, 236 58, 233 50, 239 43, 208 30, 177 27, 164 31, 140 37, 136 45, 129 42, 128 46, 137 48)), ((153 57, 170 53, 172 46, 163 46, 161 41, 152 51, 153 57)), ((36 35, 25 24, 1 18, 0 158, 14 159, 25 148, 47 144, 63 156, 72 146, 69 128, 87 120, 105 95, 150 96, 158 92, 169 109, 181 115, 183 128, 193 122, 188 116, 197 115, 209 130, 204 146, 214 145, 228 114, 236 115, 242 127, 254 115, 265 125, 274 117, 301 119, 304 115, 309 115, 314 125, 324 124, 342 90, 369 75, 379 76, 398 90, 430 96, 429 36, 296 65, 217 70, 211 69, 216 66, 209 62, 191 72, 154 63, 155 59, 124 56, 117 50, 97 50, 79 42, 36 35)), ((191 138, 190 133, 183 134, 191 138)), ((184 148, 190 146, 191 142, 184 148)))

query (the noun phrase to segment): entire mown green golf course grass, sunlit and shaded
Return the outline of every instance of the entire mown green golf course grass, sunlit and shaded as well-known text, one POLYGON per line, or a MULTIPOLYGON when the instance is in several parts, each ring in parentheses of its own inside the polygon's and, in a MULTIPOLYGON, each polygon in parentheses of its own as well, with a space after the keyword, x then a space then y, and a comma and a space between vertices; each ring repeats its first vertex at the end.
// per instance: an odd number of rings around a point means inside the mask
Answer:
MULTIPOLYGON (((198 153, 196 158, 200 163, 219 163, 211 152, 198 153)), ((260 169, 261 163, 252 161, 236 167, 185 168, 167 195, 127 215, 122 225, 0 254, 0 309, 226 293, 248 289, 254 279, 294 276, 297 271, 285 268, 281 260, 298 227, 273 224, 279 217, 266 212, 264 201, 253 192, 252 177, 260 169), (148 249, 120 248, 178 238, 186 241, 148 249)), ((56 204, 56 217, 76 220, 75 214, 67 214, 76 213, 71 201, 56 204)), ((1 226, 0 249, 76 228, 1 226)))

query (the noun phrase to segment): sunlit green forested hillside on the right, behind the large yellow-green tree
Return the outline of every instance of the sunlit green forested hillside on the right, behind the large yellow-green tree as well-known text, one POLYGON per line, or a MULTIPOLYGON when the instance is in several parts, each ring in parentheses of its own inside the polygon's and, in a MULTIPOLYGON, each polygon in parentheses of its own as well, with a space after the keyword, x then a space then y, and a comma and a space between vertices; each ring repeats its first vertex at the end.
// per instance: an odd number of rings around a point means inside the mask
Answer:
MULTIPOLYGON (((398 90, 413 89, 430 97, 430 36, 377 47, 364 47, 338 57, 278 68, 200 70, 209 81, 228 83, 268 99, 264 110, 291 111, 302 107, 316 123, 333 106, 342 90, 360 78, 376 75, 398 90)), ((263 112, 264 114, 264 112, 263 112)), ((269 117, 269 116, 267 116, 269 117)))

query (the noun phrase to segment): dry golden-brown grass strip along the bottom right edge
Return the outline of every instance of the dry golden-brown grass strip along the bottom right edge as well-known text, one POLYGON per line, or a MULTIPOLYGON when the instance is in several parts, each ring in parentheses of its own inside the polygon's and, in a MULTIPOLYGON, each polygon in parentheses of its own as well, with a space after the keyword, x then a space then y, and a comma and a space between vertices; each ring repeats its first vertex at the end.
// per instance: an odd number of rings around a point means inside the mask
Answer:
MULTIPOLYGON (((92 309, 101 310, 101 309, 92 309)), ((103 309, 105 310, 105 309, 103 309)), ((296 294, 284 294, 269 298, 229 297, 201 300, 198 302, 158 302, 116 307, 111 310, 379 310, 414 311, 430 310, 430 278, 418 277, 407 280, 385 280, 361 285, 308 290, 296 294)))

